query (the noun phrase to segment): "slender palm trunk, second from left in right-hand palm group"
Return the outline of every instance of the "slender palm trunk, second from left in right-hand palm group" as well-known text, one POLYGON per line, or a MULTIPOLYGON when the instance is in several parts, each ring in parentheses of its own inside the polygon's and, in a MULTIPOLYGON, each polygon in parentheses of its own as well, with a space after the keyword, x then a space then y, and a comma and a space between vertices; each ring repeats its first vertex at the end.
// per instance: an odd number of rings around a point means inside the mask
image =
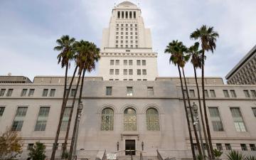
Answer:
POLYGON ((191 102, 190 102, 189 95, 188 95, 188 85, 186 83, 186 77, 185 77, 185 73, 184 73, 184 68, 181 68, 181 69, 182 69, 183 78, 184 78, 184 82, 185 82, 186 95, 187 95, 187 100, 188 100, 188 107, 189 107, 189 111, 191 112, 191 120, 192 120, 192 124, 193 124, 193 131, 194 131, 194 134, 195 134, 195 137, 196 137, 196 145, 198 146, 199 155, 201 157, 203 157, 202 156, 203 154, 202 154, 201 145, 200 145, 200 142, 199 142, 199 139, 198 139, 198 133, 197 133, 197 130, 196 130, 196 125, 194 124, 195 121, 194 121, 194 118, 193 118, 193 111, 192 111, 192 108, 191 108, 191 102))

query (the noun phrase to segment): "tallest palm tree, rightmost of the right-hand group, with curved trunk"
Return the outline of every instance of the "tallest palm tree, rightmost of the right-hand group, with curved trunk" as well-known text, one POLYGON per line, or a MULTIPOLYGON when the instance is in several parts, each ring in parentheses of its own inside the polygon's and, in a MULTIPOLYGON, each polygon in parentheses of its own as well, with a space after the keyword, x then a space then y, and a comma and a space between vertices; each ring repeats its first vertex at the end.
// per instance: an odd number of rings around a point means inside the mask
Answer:
POLYGON ((218 38, 218 33, 213 31, 213 27, 207 27, 206 25, 201 26, 201 28, 197 28, 196 31, 193 31, 191 33, 190 38, 194 40, 199 40, 201 42, 201 48, 203 50, 202 53, 202 92, 203 92, 203 110, 205 114, 206 119, 206 129, 208 134, 208 142, 210 146, 210 154, 211 158, 214 159, 213 154, 213 144, 211 142, 211 136, 210 136, 210 128, 209 128, 209 122, 208 122, 208 115, 206 111, 206 95, 205 95, 205 86, 204 86, 204 57, 206 51, 211 51, 213 53, 213 50, 216 48, 216 39, 218 38))

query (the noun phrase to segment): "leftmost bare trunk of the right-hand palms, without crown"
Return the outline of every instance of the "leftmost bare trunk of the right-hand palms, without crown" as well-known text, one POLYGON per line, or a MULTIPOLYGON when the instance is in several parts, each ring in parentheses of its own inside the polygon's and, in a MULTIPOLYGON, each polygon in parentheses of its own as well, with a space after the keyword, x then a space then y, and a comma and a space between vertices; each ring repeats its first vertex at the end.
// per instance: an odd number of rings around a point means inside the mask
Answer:
POLYGON ((188 118, 188 110, 186 108, 186 100, 185 100, 185 95, 184 95, 184 92, 183 92, 181 69, 179 68, 179 65, 178 65, 178 74, 179 74, 179 78, 180 78, 180 81, 181 81, 181 92, 182 92, 182 97, 183 97, 184 109, 185 109, 185 113, 186 113, 186 120, 187 120, 187 124, 188 124, 188 133, 189 133, 189 140, 191 142, 192 156, 193 156, 193 160, 196 160, 196 154, 195 154, 195 149, 193 147, 193 139, 192 139, 192 134, 191 134, 191 126, 190 126, 190 122, 189 122, 189 118, 188 118))

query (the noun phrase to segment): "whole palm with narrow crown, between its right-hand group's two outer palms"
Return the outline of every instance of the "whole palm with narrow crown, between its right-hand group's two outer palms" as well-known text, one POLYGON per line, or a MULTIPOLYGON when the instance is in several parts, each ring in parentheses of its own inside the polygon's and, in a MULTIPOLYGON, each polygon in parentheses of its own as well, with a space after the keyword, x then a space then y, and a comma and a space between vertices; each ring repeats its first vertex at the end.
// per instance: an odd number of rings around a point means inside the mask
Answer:
MULTIPOLYGON (((205 138, 206 141, 206 149, 208 152, 208 156, 210 156, 210 149, 209 149, 209 144, 208 144, 208 137, 206 134, 206 126, 203 120, 203 111, 202 111, 202 105, 201 105, 201 96, 200 96, 200 91, 199 91, 199 87, 198 87, 198 79, 197 79, 197 75, 196 75, 196 69, 197 68, 202 68, 202 50, 198 50, 199 48, 199 43, 196 42, 193 46, 191 46, 190 48, 188 48, 188 53, 191 54, 191 63, 193 65, 193 71, 194 71, 194 75, 195 75, 195 80, 196 80, 196 89, 197 89, 197 94, 198 94, 198 104, 199 104, 199 112, 201 115, 201 122, 202 122, 202 126, 203 126, 203 136, 205 138)), ((199 131, 201 132, 201 131, 199 131)), ((203 146, 203 144, 201 144, 203 146)))

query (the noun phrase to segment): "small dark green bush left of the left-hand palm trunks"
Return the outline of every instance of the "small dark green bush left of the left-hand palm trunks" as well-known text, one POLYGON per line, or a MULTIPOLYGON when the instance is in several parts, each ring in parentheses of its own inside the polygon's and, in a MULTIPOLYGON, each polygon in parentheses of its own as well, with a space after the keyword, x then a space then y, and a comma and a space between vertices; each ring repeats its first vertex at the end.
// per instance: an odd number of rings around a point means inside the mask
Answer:
POLYGON ((34 145, 31 149, 29 149, 30 152, 28 156, 31 159, 36 159, 36 160, 44 160, 46 159, 46 145, 44 145, 41 142, 36 142, 36 145, 34 145))

